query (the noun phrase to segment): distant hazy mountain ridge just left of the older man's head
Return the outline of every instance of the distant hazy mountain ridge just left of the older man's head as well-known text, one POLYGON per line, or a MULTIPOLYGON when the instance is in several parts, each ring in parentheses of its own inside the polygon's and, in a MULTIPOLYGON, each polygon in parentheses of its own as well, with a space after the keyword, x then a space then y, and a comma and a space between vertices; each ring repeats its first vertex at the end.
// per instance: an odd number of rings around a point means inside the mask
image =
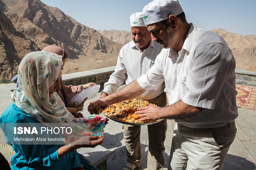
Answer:
POLYGON ((109 38, 110 40, 120 43, 127 44, 132 41, 132 31, 118 31, 118 30, 110 30, 110 31, 98 31, 101 35, 109 38))

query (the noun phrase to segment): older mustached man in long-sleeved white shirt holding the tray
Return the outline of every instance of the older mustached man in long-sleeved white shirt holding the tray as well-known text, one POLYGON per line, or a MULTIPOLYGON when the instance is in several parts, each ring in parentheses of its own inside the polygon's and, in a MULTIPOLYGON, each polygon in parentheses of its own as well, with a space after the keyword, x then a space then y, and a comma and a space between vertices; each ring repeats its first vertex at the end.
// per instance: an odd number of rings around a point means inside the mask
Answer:
MULTIPOLYGON (((114 93, 124 82, 126 85, 130 84, 145 74, 154 65, 156 56, 163 49, 163 46, 151 41, 151 34, 144 24, 142 12, 132 14, 130 23, 133 41, 125 44, 120 50, 115 71, 110 75, 109 81, 104 84, 100 98, 114 93)), ((164 83, 161 83, 158 88, 147 90, 136 98, 164 107, 166 95, 163 90, 164 83)), ((134 169, 141 164, 141 127, 124 124, 123 128, 128 162, 125 168, 134 169)), ((147 169, 163 169, 166 128, 166 120, 148 125, 147 169)))

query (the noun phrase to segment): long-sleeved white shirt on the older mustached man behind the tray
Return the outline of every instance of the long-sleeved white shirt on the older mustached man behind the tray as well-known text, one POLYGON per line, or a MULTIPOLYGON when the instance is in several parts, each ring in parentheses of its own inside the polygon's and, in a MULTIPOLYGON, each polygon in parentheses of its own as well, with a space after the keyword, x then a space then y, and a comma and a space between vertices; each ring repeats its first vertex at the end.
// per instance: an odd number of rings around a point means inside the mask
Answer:
MULTIPOLYGON (((150 42, 147 49, 143 52, 137 45, 130 41, 125 44, 117 59, 115 71, 110 75, 109 81, 104 84, 104 92, 108 95, 114 93, 124 82, 129 84, 145 74, 154 65, 156 56, 163 49, 162 45, 150 42)), ((154 90, 148 90, 137 96, 138 99, 152 99, 164 91, 164 83, 160 83, 154 90)))

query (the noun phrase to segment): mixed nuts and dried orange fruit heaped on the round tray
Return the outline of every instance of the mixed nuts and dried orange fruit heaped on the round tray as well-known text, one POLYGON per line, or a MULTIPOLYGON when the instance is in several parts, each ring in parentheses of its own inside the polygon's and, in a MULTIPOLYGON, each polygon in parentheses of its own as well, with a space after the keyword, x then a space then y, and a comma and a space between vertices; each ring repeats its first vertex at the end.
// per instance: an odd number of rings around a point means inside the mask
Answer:
POLYGON ((137 114, 134 113, 137 111, 137 108, 145 107, 149 105, 155 105, 155 104, 151 104, 146 100, 133 98, 130 100, 125 100, 119 103, 112 104, 108 108, 103 110, 103 113, 109 117, 112 117, 113 119, 120 120, 123 122, 130 122, 130 123, 155 122, 151 120, 139 121, 137 114))

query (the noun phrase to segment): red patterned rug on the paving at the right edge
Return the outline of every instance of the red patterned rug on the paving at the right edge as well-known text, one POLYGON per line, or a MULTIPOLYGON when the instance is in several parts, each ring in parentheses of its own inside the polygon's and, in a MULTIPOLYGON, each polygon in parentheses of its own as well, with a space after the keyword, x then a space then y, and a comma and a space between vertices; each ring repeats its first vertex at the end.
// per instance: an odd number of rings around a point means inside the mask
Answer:
POLYGON ((236 96, 237 106, 256 110, 256 88, 236 85, 236 90, 238 92, 236 96))

